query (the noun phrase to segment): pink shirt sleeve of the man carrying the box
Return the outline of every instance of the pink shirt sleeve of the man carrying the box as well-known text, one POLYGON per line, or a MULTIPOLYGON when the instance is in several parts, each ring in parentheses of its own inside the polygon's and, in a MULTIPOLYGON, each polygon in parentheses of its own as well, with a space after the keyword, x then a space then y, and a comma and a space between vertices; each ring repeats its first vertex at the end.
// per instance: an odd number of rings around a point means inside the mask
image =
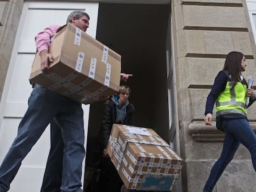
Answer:
POLYGON ((51 40, 59 27, 59 25, 50 25, 35 36, 36 51, 49 50, 51 40))

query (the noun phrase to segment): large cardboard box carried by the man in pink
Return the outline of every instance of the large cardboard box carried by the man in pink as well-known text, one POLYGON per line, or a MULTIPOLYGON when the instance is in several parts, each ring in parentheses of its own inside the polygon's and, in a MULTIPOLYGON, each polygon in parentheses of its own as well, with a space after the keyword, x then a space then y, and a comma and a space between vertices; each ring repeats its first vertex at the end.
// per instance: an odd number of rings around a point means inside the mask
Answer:
POLYGON ((41 72, 37 53, 30 81, 84 104, 119 91, 121 56, 68 24, 54 36, 50 72, 41 72))

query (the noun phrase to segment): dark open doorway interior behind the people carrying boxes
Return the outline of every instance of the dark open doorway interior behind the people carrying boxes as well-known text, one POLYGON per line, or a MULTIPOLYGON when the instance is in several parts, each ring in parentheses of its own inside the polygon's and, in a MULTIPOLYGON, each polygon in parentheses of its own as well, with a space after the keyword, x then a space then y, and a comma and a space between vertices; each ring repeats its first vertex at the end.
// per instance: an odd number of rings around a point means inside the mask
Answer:
MULTIPOLYGON (((96 39, 122 56, 122 72, 134 76, 121 85, 131 90, 138 127, 153 128, 168 141, 166 33, 170 5, 100 4, 96 39)), ((90 105, 87 165, 94 162, 104 102, 90 105)))

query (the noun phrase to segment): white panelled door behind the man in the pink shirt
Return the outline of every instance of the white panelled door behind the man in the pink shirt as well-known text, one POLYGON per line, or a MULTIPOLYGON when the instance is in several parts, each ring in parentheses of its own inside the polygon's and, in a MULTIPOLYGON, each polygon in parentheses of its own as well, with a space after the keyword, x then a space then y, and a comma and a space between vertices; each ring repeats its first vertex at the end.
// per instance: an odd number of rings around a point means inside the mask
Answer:
MULTIPOLYGON (((64 25, 67 15, 77 9, 85 10, 90 15, 87 33, 95 37, 98 3, 25 2, 0 103, 0 163, 17 135, 20 120, 27 110, 27 100, 32 91, 28 78, 36 51, 35 35, 48 25, 64 25)), ((89 106, 83 105, 83 111, 87 138, 89 106)), ((85 140, 85 147, 86 143, 85 140)), ((40 191, 49 147, 48 127, 22 162, 11 183, 11 192, 40 191)))

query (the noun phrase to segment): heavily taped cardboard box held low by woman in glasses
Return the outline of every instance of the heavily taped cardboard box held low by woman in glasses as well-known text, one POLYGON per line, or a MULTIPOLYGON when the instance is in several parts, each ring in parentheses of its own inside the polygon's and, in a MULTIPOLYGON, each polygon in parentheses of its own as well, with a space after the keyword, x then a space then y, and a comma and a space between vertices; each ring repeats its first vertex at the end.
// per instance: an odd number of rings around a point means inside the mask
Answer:
POLYGON ((150 128, 114 124, 107 151, 127 188, 171 191, 184 161, 150 128))

